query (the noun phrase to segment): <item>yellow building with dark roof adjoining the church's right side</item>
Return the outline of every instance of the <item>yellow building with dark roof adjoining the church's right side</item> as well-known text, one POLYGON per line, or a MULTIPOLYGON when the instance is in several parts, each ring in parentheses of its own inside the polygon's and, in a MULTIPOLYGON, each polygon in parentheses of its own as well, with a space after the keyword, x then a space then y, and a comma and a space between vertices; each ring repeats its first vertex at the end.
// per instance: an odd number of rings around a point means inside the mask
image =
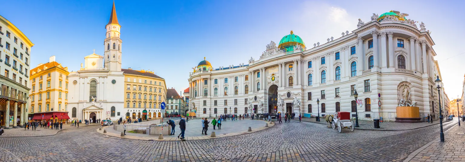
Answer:
POLYGON ((160 104, 166 102, 166 82, 153 71, 121 69, 124 73, 126 119, 162 117, 160 104))

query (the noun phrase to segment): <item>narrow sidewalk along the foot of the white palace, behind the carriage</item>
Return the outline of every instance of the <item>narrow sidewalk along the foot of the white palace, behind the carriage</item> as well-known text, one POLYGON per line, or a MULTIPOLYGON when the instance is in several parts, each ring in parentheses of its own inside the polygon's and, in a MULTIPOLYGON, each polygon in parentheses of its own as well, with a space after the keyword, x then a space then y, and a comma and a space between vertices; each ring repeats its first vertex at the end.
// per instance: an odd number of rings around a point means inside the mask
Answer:
MULTIPOLYGON (((295 119, 291 119, 293 121, 299 121, 299 117, 296 117, 295 119)), ((326 121, 325 118, 320 117, 320 122, 315 121, 316 118, 308 118, 308 117, 302 117, 302 121, 305 122, 312 122, 312 123, 320 123, 320 124, 325 124, 326 121)), ((457 121, 457 118, 455 120, 443 120, 443 123, 451 122, 451 121, 457 121)), ((283 120, 284 122, 284 120, 283 120)), ((355 123, 355 120, 353 120, 355 123)), ((373 121, 365 121, 365 120, 359 120, 359 126, 356 127, 356 130, 413 130, 413 129, 419 129, 427 126, 432 126, 435 124, 439 124, 439 120, 434 121, 434 123, 428 123, 428 122, 421 122, 421 123, 397 123, 397 122, 383 122, 379 123, 380 128, 374 128, 374 123, 373 121)))

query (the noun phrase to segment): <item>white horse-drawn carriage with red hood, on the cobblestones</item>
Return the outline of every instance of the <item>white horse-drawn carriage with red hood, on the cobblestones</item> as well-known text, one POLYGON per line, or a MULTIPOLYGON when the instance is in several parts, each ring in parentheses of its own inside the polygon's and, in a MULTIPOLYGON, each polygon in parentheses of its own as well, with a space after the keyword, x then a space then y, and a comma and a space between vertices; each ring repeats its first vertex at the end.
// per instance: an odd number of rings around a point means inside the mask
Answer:
POLYGON ((350 128, 350 131, 355 130, 355 124, 350 120, 350 112, 339 111, 334 113, 334 118, 329 117, 329 120, 326 120, 326 123, 329 127, 331 124, 332 129, 338 128, 339 133, 343 128, 350 128))

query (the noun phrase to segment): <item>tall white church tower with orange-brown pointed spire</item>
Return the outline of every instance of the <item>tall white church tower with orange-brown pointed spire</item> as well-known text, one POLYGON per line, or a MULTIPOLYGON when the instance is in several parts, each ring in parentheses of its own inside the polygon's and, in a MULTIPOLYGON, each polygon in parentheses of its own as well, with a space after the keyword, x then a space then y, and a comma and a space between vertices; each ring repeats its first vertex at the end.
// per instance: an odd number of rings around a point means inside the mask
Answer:
POLYGON ((110 14, 110 20, 106 24, 106 39, 104 41, 104 60, 105 68, 110 71, 121 71, 121 44, 120 29, 116 17, 115 2, 113 1, 113 8, 110 14))

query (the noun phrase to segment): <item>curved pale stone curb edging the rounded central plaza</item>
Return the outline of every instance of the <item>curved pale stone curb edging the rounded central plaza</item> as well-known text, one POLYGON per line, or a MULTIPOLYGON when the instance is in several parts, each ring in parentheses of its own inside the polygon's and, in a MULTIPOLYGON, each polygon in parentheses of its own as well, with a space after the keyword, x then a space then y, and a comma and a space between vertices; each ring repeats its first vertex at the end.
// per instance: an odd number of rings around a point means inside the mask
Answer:
MULTIPOLYGON (((265 122, 267 123, 267 122, 265 122)), ((251 132, 248 132, 248 131, 241 131, 241 132, 233 132, 233 133, 227 133, 229 134, 228 136, 225 136, 225 135, 216 135, 216 137, 209 137, 209 136, 191 136, 191 137, 186 137, 188 140, 186 141, 194 141, 194 140, 208 140, 208 139, 215 139, 215 138, 223 138, 223 137, 229 137, 229 136, 239 136, 239 135, 245 135, 245 134, 249 134, 249 133, 254 133, 254 132, 258 132, 258 131, 261 131, 261 130, 266 130, 268 128, 272 128, 273 126, 275 126, 276 123, 273 122, 272 125, 270 125, 268 123, 268 127, 265 127, 265 126, 262 126, 262 127, 258 127, 258 128, 255 128, 256 130, 252 130, 251 132), (262 129, 263 128, 263 129, 262 129), (192 139, 192 138, 199 138, 199 139, 192 139), (191 138, 189 140, 189 138, 191 138)), ((108 127, 109 128, 109 127, 108 127)), ((105 129, 103 129, 105 130, 105 129)), ((96 132, 102 134, 102 135, 105 135, 105 136, 110 136, 108 134, 104 134, 103 133, 103 130, 99 130, 97 129, 96 132)), ((127 136, 127 135, 126 135, 127 136)), ((174 138, 173 141, 181 141, 181 140, 177 140, 178 138, 176 137, 166 137, 166 138, 163 138, 163 140, 159 140, 159 139, 156 139, 156 137, 138 137, 139 139, 131 139, 131 138, 126 138, 125 137, 121 137, 121 136, 111 136, 111 137, 117 137, 117 138, 124 138, 124 139, 130 139, 130 140, 140 140, 140 141, 166 141, 166 142, 171 142, 174 138), (149 138, 152 138, 152 139, 149 139, 149 138)))

